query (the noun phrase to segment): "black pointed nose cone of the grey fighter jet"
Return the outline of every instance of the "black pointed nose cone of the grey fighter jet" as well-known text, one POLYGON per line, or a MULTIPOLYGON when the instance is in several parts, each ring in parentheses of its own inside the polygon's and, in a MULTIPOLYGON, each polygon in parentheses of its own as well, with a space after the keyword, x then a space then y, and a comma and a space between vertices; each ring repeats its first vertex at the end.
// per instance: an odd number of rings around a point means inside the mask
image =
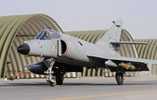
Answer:
POLYGON ((28 44, 23 43, 17 48, 17 51, 23 55, 27 55, 30 51, 30 47, 28 44))

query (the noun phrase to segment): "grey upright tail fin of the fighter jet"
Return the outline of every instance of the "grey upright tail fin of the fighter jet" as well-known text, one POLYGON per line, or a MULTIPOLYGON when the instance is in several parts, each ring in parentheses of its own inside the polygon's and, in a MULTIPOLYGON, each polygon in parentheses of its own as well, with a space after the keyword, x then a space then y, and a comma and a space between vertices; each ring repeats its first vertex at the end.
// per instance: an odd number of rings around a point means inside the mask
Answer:
POLYGON ((113 21, 111 28, 101 37, 96 45, 103 46, 105 43, 120 41, 122 20, 113 21))

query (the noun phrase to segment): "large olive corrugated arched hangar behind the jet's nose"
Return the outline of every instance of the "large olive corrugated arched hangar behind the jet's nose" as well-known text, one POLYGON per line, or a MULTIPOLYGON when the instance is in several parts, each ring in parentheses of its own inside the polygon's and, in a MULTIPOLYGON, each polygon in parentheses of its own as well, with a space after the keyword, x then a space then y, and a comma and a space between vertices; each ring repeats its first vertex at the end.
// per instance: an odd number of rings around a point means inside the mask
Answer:
MULTIPOLYGON (((16 48, 24 40, 33 39, 45 28, 62 32, 59 25, 44 14, 0 17, 0 77, 24 72, 24 66, 34 62, 33 57, 19 55, 16 48)), ((34 77, 34 75, 22 76, 22 78, 27 77, 34 77)))

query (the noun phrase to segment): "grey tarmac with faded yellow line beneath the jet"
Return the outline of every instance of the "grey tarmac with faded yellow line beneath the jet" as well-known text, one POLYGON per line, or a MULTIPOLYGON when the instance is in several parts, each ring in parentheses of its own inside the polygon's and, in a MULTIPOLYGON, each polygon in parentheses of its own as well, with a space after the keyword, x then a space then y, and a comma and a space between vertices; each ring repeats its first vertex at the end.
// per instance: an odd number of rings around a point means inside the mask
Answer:
POLYGON ((157 77, 65 79, 50 87, 45 79, 0 80, 0 100, 157 100, 157 77))

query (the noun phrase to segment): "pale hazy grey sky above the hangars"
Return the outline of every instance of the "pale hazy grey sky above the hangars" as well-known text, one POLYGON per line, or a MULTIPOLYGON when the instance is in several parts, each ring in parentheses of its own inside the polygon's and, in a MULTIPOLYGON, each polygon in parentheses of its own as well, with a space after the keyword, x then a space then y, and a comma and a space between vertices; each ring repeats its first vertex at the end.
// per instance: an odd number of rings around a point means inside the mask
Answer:
POLYGON ((134 39, 157 38, 157 0, 1 0, 0 16, 47 14, 63 31, 104 30, 121 18, 134 39))

